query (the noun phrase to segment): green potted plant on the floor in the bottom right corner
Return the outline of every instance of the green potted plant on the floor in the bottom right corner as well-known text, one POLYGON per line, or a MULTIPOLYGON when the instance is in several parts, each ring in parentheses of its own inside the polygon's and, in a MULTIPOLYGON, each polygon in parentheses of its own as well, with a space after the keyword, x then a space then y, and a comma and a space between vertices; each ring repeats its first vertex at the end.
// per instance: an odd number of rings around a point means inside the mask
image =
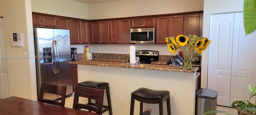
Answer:
MULTIPOLYGON (((249 99, 234 101, 231 104, 232 108, 238 109, 239 115, 256 115, 256 105, 254 105, 253 103, 250 102, 250 99, 252 99, 252 97, 256 96, 256 87, 254 87, 252 89, 250 83, 249 83, 248 87, 249 87, 249 91, 250 91, 249 99)), ((206 113, 204 113, 204 115, 208 115, 210 113, 228 113, 226 115, 237 115, 234 113, 229 113, 227 111, 220 111, 220 110, 207 111, 206 113)))

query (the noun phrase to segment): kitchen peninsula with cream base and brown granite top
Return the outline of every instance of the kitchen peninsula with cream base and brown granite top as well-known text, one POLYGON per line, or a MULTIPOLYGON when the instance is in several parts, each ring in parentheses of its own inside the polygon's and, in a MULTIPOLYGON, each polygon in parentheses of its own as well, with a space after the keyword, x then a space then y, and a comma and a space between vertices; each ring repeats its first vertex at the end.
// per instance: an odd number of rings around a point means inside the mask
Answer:
MULTIPOLYGON (((78 83, 87 80, 109 83, 114 115, 129 115, 131 93, 140 87, 170 91, 171 113, 173 115, 195 114, 197 77, 195 71, 198 70, 198 67, 183 70, 182 67, 176 65, 142 63, 127 65, 126 59, 106 60, 80 59, 69 63, 78 64, 78 83), (122 96, 123 100, 121 101, 120 97, 122 96), (184 109, 186 111, 183 111, 184 109)), ((104 104, 106 104, 106 96, 104 98, 104 104)), ((135 101, 135 114, 139 114, 139 106, 139 102, 135 101)), ((158 106, 158 104, 145 103, 144 109, 150 108, 152 115, 157 115, 159 114, 158 106)), ((166 104, 164 104, 164 115, 166 114, 166 104)))

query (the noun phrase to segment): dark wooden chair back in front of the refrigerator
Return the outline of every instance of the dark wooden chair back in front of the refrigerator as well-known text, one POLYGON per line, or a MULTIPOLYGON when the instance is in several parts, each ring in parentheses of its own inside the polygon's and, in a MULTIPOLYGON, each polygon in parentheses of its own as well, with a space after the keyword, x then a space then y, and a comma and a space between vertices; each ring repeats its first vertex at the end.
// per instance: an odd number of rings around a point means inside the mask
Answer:
POLYGON ((38 101, 50 103, 54 105, 60 105, 65 106, 65 99, 66 99, 66 89, 67 86, 61 86, 61 85, 53 85, 48 83, 41 83, 40 93, 39 93, 39 99, 38 101), (56 100, 50 100, 50 99, 44 99, 44 93, 51 93, 61 96, 61 102, 56 100))

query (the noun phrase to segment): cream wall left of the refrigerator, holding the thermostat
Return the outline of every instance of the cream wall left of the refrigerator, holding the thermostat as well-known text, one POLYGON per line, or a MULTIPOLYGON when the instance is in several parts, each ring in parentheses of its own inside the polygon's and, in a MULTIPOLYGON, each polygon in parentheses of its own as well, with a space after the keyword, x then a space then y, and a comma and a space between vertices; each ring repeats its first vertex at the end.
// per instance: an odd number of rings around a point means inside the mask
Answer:
POLYGON ((34 59, 24 59, 23 52, 34 56, 34 37, 30 0, 1 0, 1 14, 4 16, 4 41, 7 59, 10 96, 37 100, 34 59), (24 47, 11 46, 10 34, 22 32, 24 47), (24 93, 26 92, 26 93, 24 93))

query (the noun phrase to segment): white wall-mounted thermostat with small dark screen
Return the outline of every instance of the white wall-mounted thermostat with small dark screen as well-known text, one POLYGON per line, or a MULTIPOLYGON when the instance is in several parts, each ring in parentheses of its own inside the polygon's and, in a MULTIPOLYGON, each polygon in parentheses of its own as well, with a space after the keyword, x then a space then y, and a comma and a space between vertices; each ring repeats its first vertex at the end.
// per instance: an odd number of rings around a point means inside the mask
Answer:
POLYGON ((12 33, 10 34, 11 46, 24 46, 23 33, 12 33))

